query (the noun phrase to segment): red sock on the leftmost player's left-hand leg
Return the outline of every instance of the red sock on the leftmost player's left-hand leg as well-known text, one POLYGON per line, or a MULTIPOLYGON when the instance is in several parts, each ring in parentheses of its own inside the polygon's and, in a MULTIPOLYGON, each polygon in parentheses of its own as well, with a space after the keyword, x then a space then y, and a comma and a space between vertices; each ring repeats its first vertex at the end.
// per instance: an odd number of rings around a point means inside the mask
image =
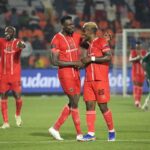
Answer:
POLYGON ((1 100, 1 111, 4 123, 8 123, 8 101, 7 99, 1 100))

